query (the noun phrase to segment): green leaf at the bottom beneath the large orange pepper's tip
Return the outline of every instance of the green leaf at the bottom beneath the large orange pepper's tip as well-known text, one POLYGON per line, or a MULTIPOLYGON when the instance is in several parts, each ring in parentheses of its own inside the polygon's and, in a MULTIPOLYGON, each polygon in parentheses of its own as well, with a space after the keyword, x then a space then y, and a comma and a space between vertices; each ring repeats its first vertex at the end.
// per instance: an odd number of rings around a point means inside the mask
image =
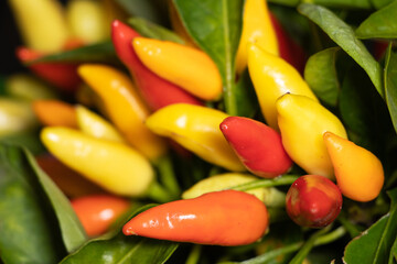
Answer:
MULTIPOLYGON (((153 205, 147 205, 132 213, 138 215, 153 205)), ((128 218, 129 219, 129 218, 128 218)), ((121 227, 125 222, 121 222, 121 227)), ((122 263, 164 263, 178 249, 179 243, 127 237, 120 232, 107 234, 88 241, 76 252, 66 256, 62 264, 122 264, 122 263)))

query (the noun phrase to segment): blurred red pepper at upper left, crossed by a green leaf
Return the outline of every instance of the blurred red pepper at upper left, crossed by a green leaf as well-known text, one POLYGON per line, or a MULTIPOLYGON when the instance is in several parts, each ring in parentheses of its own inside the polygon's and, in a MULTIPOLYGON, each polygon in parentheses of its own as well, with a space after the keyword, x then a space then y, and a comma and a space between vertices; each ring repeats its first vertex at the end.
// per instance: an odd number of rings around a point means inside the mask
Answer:
MULTIPOLYGON (((44 55, 28 47, 17 48, 17 57, 22 63, 29 63, 44 55)), ((77 67, 78 65, 73 63, 36 63, 29 66, 35 75, 68 92, 75 91, 82 82, 77 75, 77 67)))

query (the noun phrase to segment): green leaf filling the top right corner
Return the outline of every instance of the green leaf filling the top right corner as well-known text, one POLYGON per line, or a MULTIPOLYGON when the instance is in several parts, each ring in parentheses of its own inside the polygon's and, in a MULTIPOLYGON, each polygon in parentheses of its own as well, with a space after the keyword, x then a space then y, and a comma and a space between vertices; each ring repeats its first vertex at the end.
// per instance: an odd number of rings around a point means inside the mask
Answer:
POLYGON ((397 1, 372 13, 356 29, 360 38, 396 38, 397 37, 397 1))

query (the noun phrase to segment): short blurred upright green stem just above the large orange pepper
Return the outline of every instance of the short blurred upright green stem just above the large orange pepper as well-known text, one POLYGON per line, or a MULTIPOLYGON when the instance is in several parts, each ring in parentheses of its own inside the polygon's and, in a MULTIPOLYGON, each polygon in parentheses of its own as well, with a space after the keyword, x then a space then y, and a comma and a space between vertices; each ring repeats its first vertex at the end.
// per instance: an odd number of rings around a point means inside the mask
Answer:
POLYGON ((161 157, 158 163, 157 167, 159 168, 160 173, 160 180, 164 185, 164 187, 173 195, 179 196, 181 194, 181 189, 172 166, 172 161, 170 156, 161 157))

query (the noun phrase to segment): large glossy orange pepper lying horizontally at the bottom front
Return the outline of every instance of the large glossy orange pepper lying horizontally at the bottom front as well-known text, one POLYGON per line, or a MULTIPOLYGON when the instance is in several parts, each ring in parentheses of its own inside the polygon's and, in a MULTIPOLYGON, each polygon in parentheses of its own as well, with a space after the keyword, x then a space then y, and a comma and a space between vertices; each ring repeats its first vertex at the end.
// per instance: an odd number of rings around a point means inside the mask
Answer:
POLYGON ((214 191, 148 209, 122 232, 160 240, 213 245, 250 244, 268 228, 266 206, 237 190, 214 191))

